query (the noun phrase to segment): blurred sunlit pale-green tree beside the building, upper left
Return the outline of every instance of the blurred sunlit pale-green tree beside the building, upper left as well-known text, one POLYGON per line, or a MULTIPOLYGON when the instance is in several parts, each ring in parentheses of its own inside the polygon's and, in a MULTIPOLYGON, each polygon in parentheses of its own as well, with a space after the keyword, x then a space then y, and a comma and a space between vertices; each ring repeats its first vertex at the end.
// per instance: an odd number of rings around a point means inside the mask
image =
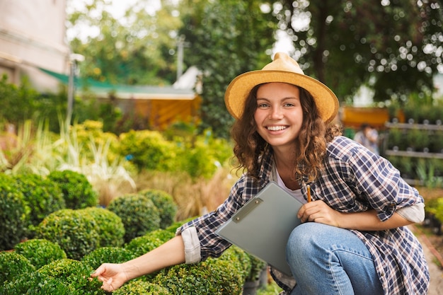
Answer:
POLYGON ((168 1, 159 13, 146 10, 151 0, 129 5, 120 19, 110 13, 106 0, 69 12, 69 30, 86 27, 96 32, 85 35, 79 30, 70 40, 71 50, 85 57, 79 64, 81 78, 129 85, 173 83, 176 65, 169 50, 176 46, 173 32, 180 18, 173 16, 168 1))

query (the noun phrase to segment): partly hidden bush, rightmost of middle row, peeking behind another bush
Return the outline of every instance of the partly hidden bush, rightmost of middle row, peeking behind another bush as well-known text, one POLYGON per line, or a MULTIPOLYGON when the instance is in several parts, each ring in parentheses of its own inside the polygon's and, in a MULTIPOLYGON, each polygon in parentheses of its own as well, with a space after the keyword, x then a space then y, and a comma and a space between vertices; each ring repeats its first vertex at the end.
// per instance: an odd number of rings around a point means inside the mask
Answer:
POLYGON ((177 205, 171 195, 163 190, 154 189, 142 190, 139 194, 149 197, 159 209, 161 229, 166 229, 166 227, 173 224, 177 214, 177 205))

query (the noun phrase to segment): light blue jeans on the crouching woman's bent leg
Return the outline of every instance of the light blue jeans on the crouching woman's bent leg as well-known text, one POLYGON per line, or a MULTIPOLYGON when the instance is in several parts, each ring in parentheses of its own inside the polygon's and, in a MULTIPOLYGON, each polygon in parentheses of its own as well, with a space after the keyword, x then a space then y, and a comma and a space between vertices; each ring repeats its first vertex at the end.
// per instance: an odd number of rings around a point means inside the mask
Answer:
POLYGON ((301 224, 289 236, 286 257, 297 281, 291 295, 384 294, 371 253, 346 229, 301 224))

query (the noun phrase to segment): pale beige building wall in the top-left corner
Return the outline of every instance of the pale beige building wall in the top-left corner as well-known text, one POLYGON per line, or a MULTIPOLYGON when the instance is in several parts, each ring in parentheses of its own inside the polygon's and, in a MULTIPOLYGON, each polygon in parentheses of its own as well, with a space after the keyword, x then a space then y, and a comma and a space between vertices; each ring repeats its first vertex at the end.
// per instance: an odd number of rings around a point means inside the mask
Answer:
POLYGON ((39 91, 57 92, 59 81, 38 66, 69 72, 66 1, 0 0, 0 75, 13 83, 27 76, 39 91))

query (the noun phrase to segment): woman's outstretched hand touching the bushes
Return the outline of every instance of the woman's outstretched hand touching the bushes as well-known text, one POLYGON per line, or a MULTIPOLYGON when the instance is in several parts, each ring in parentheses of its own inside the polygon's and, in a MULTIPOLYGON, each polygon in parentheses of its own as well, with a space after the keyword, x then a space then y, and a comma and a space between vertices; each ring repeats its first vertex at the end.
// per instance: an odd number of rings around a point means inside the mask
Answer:
POLYGON ((125 267, 114 263, 103 263, 91 274, 91 277, 97 277, 100 282, 103 282, 101 289, 108 292, 115 291, 128 281, 125 267))

